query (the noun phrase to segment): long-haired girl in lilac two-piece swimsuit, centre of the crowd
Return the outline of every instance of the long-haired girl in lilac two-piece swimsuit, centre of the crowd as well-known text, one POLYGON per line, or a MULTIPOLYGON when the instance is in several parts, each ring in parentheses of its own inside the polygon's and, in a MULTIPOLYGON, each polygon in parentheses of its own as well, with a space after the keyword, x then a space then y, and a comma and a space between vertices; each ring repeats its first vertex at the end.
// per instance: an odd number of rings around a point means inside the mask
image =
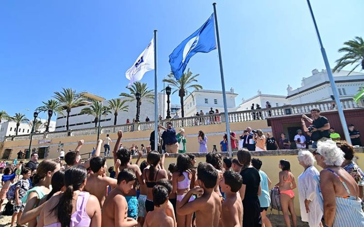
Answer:
MULTIPOLYGON (((172 174, 172 194, 177 193, 176 207, 179 207, 180 202, 186 193, 190 190, 191 180, 193 182, 193 172, 195 166, 192 166, 191 159, 186 154, 180 154, 177 157, 177 165, 175 172, 172 174)), ((193 201, 191 197, 189 201, 193 201)), ((192 227, 192 213, 187 215, 177 214, 177 226, 192 227)))

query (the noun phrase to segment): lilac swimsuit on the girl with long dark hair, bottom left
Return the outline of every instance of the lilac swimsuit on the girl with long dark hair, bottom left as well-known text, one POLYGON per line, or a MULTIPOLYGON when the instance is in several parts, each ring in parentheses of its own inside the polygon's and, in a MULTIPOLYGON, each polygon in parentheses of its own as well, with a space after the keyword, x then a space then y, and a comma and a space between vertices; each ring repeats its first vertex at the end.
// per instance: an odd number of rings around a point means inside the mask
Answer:
MULTIPOLYGON (((90 193, 80 192, 76 201, 76 211, 71 215, 71 223, 69 227, 89 227, 91 218, 86 213, 86 204, 90 193)), ((61 223, 56 222, 44 227, 61 227, 61 223)))

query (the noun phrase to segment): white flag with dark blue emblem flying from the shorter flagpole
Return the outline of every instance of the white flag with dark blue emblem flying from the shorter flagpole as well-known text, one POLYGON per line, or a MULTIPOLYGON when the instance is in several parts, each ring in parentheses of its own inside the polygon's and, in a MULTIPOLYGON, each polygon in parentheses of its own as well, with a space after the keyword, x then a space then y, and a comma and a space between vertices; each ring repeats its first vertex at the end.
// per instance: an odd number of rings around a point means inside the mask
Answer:
POLYGON ((125 76, 130 80, 128 88, 132 87, 134 82, 140 81, 144 74, 154 69, 154 38, 150 41, 147 48, 139 55, 134 64, 125 76))

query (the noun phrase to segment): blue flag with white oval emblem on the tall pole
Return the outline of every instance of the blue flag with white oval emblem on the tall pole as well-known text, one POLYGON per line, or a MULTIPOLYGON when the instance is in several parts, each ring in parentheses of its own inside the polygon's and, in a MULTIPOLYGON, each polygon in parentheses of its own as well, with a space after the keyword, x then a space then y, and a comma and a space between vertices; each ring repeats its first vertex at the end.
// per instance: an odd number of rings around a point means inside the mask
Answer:
POLYGON ((196 53, 208 53, 214 49, 216 49, 216 40, 214 14, 212 14, 199 30, 183 40, 169 55, 169 64, 174 77, 177 80, 182 77, 188 61, 196 53))

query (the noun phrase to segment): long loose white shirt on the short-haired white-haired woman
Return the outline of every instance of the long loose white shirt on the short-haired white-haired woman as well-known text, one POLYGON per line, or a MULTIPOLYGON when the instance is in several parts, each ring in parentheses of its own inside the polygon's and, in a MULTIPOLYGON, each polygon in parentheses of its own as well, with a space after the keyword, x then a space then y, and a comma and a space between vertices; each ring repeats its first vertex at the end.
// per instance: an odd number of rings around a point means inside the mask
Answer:
POLYGON ((299 209, 301 211, 301 219, 303 222, 308 222, 310 227, 318 227, 323 212, 318 202, 317 188, 318 178, 320 173, 314 166, 308 167, 301 175, 298 176, 298 195, 299 195, 299 209), (305 199, 310 200, 310 212, 306 213, 305 199))

